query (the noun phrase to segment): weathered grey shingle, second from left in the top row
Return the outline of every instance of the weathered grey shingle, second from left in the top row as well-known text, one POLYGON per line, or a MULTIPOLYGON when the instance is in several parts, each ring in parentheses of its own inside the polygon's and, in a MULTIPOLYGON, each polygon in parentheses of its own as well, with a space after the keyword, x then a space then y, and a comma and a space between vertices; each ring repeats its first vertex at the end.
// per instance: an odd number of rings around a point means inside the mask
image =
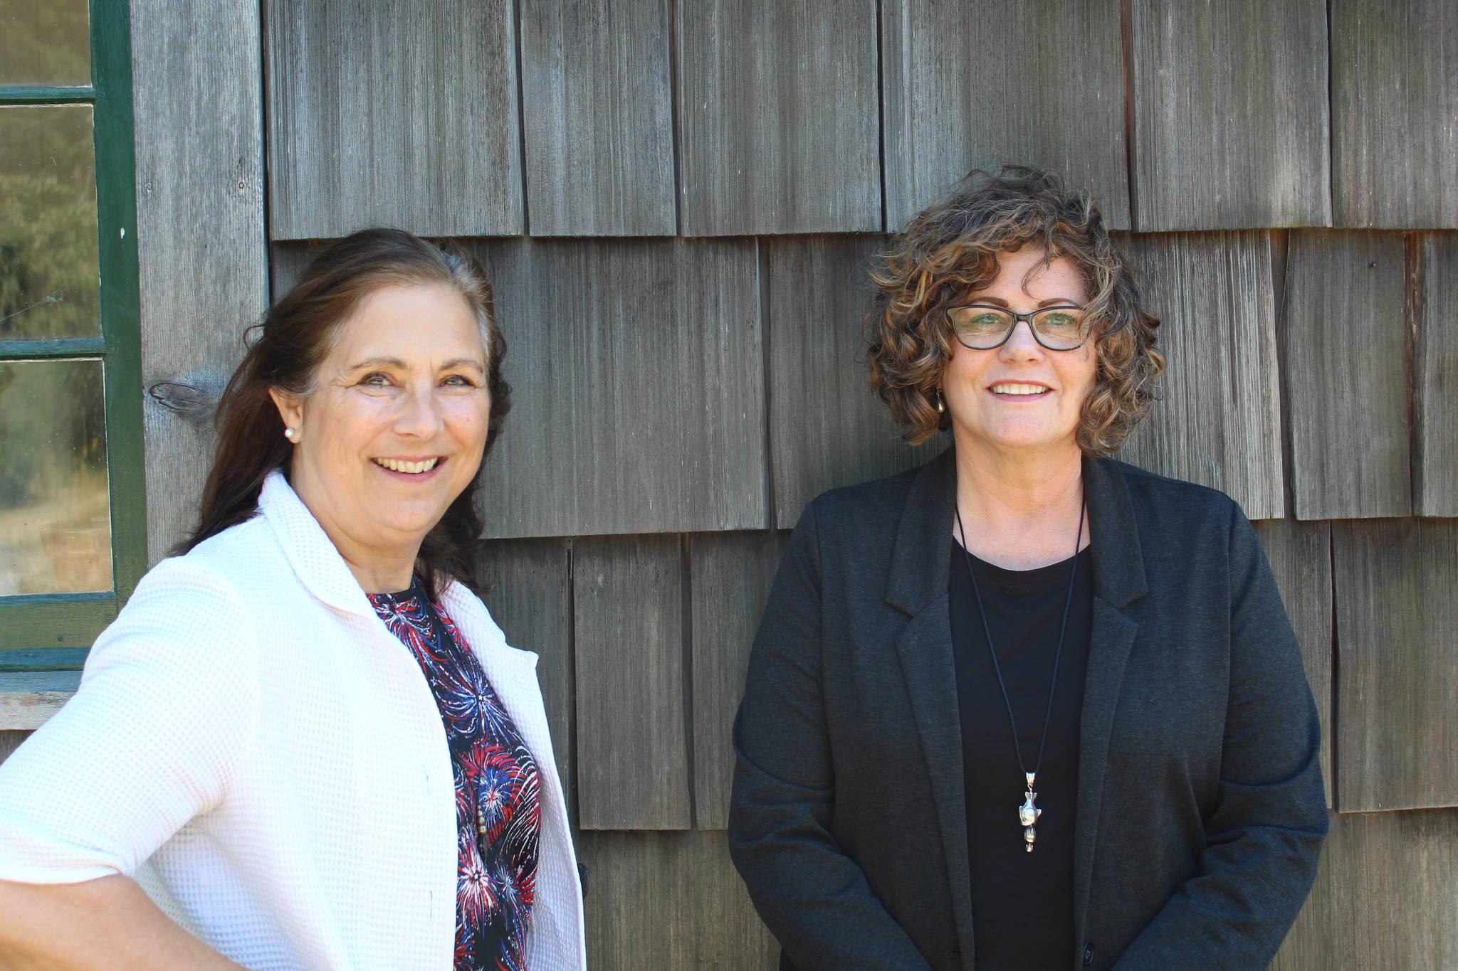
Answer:
POLYGON ((668 0, 522 4, 534 236, 672 236, 668 0))

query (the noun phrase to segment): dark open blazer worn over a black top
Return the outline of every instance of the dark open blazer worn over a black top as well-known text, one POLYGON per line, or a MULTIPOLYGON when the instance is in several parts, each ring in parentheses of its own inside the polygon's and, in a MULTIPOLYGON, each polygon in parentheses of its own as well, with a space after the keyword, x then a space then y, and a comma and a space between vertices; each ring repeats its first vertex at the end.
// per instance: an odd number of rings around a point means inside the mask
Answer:
MULTIPOLYGON (((1085 460, 1083 480, 1069 968, 1264 968, 1327 830, 1317 712, 1270 568, 1213 489, 1112 460, 1085 460)), ((729 850, 783 967, 972 971, 954 489, 948 451, 827 492, 776 576, 735 724, 729 850)))

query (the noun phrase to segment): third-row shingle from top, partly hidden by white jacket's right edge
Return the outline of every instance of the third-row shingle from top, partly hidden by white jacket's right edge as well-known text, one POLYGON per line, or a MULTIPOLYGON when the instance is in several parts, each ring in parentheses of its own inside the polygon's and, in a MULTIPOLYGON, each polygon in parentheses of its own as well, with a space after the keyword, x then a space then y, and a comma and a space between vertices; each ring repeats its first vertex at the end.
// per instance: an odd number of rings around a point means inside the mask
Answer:
POLYGON ((557 776, 567 815, 576 820, 572 542, 483 542, 477 553, 477 584, 506 642, 538 658, 537 681, 547 706, 557 776))

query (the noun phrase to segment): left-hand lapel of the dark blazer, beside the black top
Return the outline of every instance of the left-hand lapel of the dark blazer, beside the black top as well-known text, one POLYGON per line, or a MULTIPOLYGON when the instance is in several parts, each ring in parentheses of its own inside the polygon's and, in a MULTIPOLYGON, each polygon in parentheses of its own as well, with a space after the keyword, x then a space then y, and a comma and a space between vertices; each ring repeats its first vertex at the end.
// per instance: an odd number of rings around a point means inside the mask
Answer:
POLYGON ((917 473, 907 494, 885 601, 911 617, 897 638, 897 654, 932 780, 962 968, 971 971, 972 884, 967 862, 962 724, 946 594, 955 501, 956 464, 948 448, 917 473))

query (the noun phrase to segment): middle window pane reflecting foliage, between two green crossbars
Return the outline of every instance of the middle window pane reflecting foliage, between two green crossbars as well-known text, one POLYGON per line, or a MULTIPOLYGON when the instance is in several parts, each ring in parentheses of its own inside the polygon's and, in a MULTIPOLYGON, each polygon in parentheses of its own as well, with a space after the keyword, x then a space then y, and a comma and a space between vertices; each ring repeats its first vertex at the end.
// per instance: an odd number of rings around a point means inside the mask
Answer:
POLYGON ((90 105, 0 108, 0 341, 101 333, 90 105))

